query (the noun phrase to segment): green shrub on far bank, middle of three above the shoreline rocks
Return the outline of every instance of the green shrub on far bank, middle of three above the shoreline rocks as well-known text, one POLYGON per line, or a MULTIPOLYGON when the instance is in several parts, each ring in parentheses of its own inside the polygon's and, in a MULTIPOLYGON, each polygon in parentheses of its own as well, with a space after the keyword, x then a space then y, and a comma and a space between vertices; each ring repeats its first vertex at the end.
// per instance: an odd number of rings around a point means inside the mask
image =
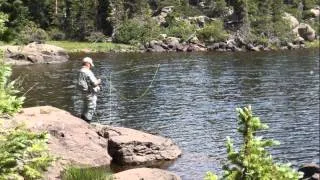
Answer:
POLYGON ((182 40, 187 40, 191 35, 196 32, 196 26, 190 24, 190 22, 185 20, 172 20, 169 21, 168 27, 165 28, 164 32, 168 36, 178 37, 182 40))

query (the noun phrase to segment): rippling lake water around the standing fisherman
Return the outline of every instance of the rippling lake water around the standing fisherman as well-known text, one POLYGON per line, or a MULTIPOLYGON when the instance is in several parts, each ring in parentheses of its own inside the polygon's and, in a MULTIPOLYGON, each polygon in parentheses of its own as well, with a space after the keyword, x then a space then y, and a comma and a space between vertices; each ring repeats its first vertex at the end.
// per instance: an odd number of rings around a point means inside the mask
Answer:
MULTIPOLYGON (((93 56, 94 72, 104 80, 96 120, 171 138, 183 155, 167 169, 183 179, 203 179, 209 170, 221 173, 226 137, 236 145, 241 142, 235 108, 247 104, 271 127, 259 135, 281 141, 271 149, 277 161, 295 167, 319 162, 316 50, 93 56), (148 93, 127 100, 145 91, 158 64, 148 93), (116 90, 110 93, 111 72, 116 90)), ((78 115, 75 82, 81 57, 73 55, 64 64, 14 67, 14 76, 24 79, 24 91, 34 86, 25 106, 52 105, 78 115)))

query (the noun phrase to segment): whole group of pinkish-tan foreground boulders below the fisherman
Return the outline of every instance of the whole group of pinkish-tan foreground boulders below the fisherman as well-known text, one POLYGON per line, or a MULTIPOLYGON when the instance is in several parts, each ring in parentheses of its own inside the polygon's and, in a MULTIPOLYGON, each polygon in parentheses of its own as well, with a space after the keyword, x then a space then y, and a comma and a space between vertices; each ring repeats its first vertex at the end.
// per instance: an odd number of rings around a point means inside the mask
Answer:
POLYGON ((6 122, 4 127, 25 124, 31 131, 48 132, 49 152, 56 161, 45 173, 46 180, 61 179, 61 174, 70 165, 88 168, 108 167, 111 163, 133 168, 114 174, 118 180, 127 180, 127 177, 181 179, 171 172, 151 169, 157 162, 173 161, 181 156, 180 148, 167 138, 123 127, 89 125, 51 106, 24 108, 6 122))

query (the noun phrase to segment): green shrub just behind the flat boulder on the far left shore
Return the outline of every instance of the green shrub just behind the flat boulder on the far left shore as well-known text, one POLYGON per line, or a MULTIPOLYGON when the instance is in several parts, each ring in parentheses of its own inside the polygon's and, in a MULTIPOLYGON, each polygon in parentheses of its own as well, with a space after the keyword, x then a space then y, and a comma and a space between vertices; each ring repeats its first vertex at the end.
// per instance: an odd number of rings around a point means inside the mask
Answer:
POLYGON ((18 36, 18 44, 28 44, 30 42, 44 43, 48 40, 48 34, 45 30, 39 28, 34 22, 30 21, 18 36))

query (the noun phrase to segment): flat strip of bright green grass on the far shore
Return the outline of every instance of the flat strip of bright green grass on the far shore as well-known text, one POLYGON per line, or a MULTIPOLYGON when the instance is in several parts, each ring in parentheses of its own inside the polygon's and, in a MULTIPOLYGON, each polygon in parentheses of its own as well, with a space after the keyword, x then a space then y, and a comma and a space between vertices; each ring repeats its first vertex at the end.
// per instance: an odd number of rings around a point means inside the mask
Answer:
POLYGON ((134 50, 136 47, 115 44, 111 42, 76 42, 76 41, 47 41, 47 44, 55 45, 64 48, 67 52, 110 52, 110 51, 121 51, 121 50, 134 50))

